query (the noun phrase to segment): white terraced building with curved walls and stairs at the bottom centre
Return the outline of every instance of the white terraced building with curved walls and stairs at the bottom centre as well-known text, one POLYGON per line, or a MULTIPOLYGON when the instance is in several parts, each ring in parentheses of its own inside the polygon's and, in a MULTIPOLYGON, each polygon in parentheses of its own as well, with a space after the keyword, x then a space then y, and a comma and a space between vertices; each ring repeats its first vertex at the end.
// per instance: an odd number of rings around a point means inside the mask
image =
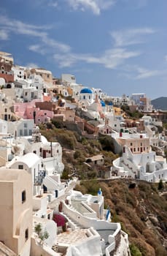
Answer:
POLYGON ((57 236, 58 245, 67 246, 66 256, 128 256, 128 235, 123 233, 120 223, 109 222, 109 210, 104 211, 104 197, 101 189, 97 196, 82 195, 71 191, 62 202, 63 215, 67 219, 70 236, 57 236), (74 237, 77 237, 74 242, 74 237), (120 243, 116 245, 116 239, 120 243), (124 242, 123 242, 124 241, 124 242), (123 246, 125 244, 125 246, 123 246))

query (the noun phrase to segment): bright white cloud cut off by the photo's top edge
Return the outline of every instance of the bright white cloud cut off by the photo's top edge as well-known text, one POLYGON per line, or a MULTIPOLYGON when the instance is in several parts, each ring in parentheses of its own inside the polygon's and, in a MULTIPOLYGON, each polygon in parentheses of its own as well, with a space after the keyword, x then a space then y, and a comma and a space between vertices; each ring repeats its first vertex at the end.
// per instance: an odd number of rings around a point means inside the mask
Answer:
POLYGON ((100 15, 101 10, 107 10, 115 0, 66 0, 74 10, 91 10, 95 15, 100 15))

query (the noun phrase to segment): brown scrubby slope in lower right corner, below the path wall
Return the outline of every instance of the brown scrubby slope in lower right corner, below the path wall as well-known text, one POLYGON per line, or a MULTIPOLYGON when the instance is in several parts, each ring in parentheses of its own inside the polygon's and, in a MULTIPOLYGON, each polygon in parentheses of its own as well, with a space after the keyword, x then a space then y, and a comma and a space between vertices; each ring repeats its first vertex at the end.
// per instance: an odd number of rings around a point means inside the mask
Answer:
POLYGON ((112 222, 120 222, 128 233, 131 256, 166 256, 167 194, 159 194, 158 184, 135 181, 136 187, 129 188, 131 182, 128 179, 81 181, 76 189, 96 195, 101 187, 112 222))

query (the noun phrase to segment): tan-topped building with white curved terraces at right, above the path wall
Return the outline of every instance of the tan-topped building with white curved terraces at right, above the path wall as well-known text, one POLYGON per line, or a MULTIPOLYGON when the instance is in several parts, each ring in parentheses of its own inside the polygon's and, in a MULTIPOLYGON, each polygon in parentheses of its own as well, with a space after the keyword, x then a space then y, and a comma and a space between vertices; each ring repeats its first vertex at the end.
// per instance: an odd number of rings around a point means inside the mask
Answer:
POLYGON ((144 134, 112 134, 123 147, 123 157, 113 161, 112 176, 140 178, 149 182, 167 179, 166 159, 156 156, 149 147, 149 138, 144 134))

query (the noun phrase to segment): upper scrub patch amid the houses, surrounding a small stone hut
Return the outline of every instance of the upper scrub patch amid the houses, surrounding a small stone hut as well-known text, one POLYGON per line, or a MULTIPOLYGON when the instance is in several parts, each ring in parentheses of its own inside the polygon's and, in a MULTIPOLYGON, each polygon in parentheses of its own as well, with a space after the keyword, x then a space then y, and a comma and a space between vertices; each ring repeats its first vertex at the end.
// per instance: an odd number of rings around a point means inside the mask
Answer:
POLYGON ((49 141, 58 141, 63 148, 64 171, 62 178, 69 178, 73 174, 79 179, 103 178, 105 172, 112 166, 112 161, 118 156, 113 153, 112 138, 101 136, 98 140, 81 138, 77 132, 64 128, 57 128, 54 124, 40 126, 42 135, 49 141), (88 165, 85 159, 95 155, 104 156, 104 165, 88 165))

